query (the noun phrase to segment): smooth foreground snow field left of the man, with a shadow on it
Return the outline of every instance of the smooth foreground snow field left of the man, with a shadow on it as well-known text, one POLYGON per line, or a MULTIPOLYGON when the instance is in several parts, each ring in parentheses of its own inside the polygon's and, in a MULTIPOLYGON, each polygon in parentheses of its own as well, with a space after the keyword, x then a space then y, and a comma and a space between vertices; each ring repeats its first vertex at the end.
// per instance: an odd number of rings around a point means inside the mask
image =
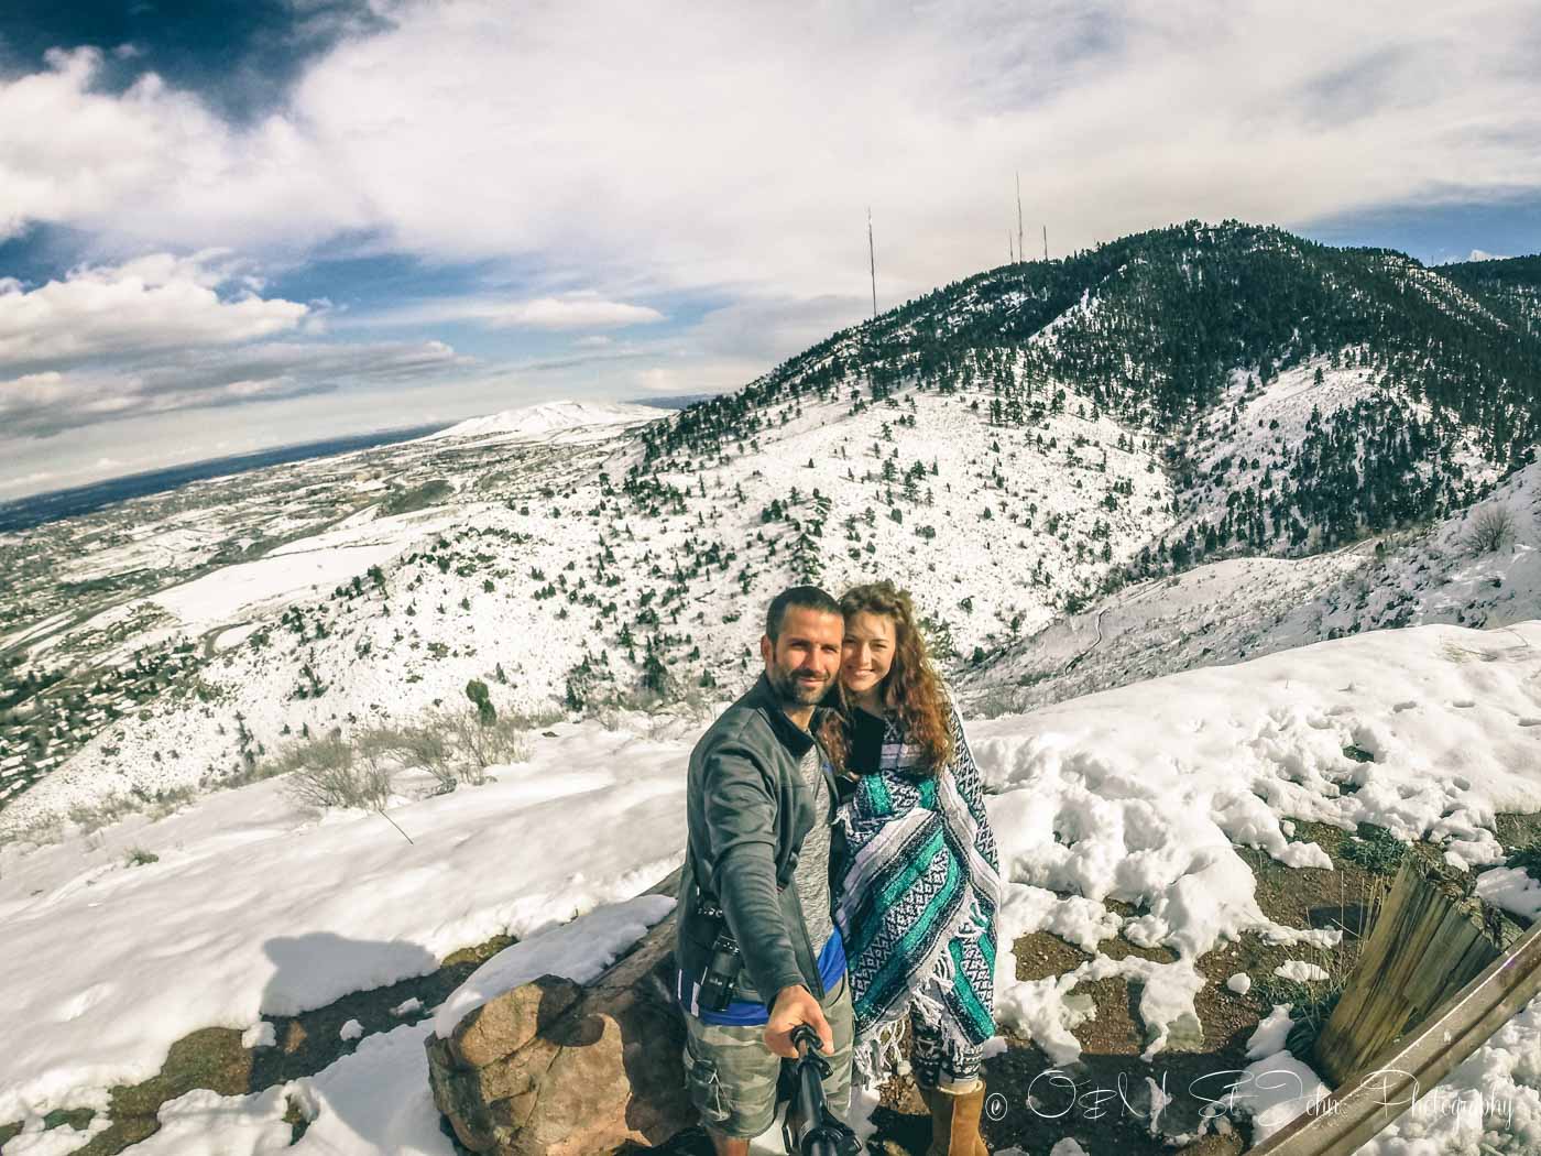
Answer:
POLYGON ((595 723, 556 731, 496 783, 396 808, 413 843, 373 814, 317 822, 268 780, 0 852, 0 965, 29 977, 0 1011, 0 1121, 148 1079, 196 1028, 324 1006, 649 888, 684 852, 684 751, 595 723), (629 835, 575 863, 573 823, 629 835), (154 849, 156 871, 122 866, 128 846, 154 849))

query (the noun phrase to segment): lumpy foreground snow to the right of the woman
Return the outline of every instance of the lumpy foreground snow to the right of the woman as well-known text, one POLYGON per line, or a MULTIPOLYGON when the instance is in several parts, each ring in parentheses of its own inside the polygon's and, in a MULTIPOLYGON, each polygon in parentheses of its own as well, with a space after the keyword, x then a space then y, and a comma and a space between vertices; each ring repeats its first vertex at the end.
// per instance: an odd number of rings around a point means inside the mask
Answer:
POLYGON ((1065 999, 1076 985, 1140 979, 1148 1057, 1191 1031, 1202 985, 1193 962, 1222 940, 1254 931, 1335 942, 1339 933, 1268 920, 1231 846, 1328 866, 1321 848, 1290 842, 1284 815, 1345 829, 1378 823, 1444 842, 1465 866, 1498 862, 1493 812, 1541 809, 1541 778, 1524 771, 1536 766, 1538 738, 1518 724, 1541 694, 1535 643, 1536 623, 1513 635, 1381 632, 972 724, 974 754, 999 792, 991 818, 1009 880, 1002 943, 1046 929, 1054 897, 1068 894, 1142 905, 1125 937, 1179 956, 1165 965, 1096 956, 1065 976, 1019 982, 1016 956, 1003 951, 1000 1019, 1065 1064, 1080 1050, 1069 1030, 1085 1010, 1065 999), (1467 661, 1475 650, 1495 657, 1467 661), (1348 746, 1375 761, 1355 761, 1348 746))

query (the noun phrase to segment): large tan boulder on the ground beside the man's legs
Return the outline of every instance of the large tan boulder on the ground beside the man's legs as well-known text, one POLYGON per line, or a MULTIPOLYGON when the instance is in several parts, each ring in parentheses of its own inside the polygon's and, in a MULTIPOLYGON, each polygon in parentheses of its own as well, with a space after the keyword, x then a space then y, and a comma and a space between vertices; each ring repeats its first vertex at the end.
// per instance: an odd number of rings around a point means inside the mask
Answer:
MULTIPOLYGON (((652 888, 672 894, 678 872, 652 888)), ((461 1144, 488 1156, 595 1156, 697 1122, 673 999, 675 916, 598 980, 542 976, 441 1039, 428 1084, 461 1144)))

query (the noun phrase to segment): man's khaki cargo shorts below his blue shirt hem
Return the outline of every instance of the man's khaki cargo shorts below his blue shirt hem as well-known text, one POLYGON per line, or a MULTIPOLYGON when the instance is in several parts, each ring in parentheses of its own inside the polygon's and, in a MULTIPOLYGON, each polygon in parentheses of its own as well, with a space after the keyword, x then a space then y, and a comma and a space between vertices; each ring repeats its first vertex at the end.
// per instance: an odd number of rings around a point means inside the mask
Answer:
MULTIPOLYGON (((844 1119, 851 1107, 851 985, 844 976, 820 1000, 835 1037, 835 1053, 820 1056, 829 1064, 824 1101, 844 1119)), ((684 1016, 684 1077, 701 1122, 724 1136, 754 1139, 775 1121, 777 1077, 781 1065, 764 1042, 764 1025, 723 1027, 684 1016)))

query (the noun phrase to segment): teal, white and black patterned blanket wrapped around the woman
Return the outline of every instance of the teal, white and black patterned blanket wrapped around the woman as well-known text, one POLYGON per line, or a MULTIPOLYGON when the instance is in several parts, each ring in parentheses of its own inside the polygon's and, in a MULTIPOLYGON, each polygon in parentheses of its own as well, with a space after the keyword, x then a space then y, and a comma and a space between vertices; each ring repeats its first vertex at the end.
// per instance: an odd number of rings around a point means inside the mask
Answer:
POLYGON ((1000 866, 979 768, 952 707, 952 761, 917 775, 920 752, 886 720, 877 774, 841 806, 849 857, 835 923, 855 1010, 857 1067, 900 1059, 906 1013, 949 1045, 995 1033, 995 909, 1000 866))

